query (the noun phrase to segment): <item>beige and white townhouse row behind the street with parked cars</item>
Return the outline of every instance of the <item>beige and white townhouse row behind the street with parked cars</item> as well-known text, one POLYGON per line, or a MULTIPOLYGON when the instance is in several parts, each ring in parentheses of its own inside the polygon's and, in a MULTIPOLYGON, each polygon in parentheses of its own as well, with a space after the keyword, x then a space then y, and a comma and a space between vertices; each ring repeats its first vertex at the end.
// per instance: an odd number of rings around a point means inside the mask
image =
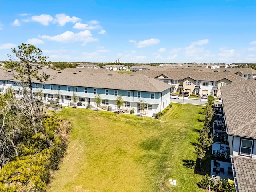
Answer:
POLYGON ((232 82, 240 82, 243 78, 226 72, 198 71, 137 71, 134 74, 144 74, 172 86, 171 92, 182 94, 183 90, 198 96, 208 94, 220 97, 220 87, 232 82))

